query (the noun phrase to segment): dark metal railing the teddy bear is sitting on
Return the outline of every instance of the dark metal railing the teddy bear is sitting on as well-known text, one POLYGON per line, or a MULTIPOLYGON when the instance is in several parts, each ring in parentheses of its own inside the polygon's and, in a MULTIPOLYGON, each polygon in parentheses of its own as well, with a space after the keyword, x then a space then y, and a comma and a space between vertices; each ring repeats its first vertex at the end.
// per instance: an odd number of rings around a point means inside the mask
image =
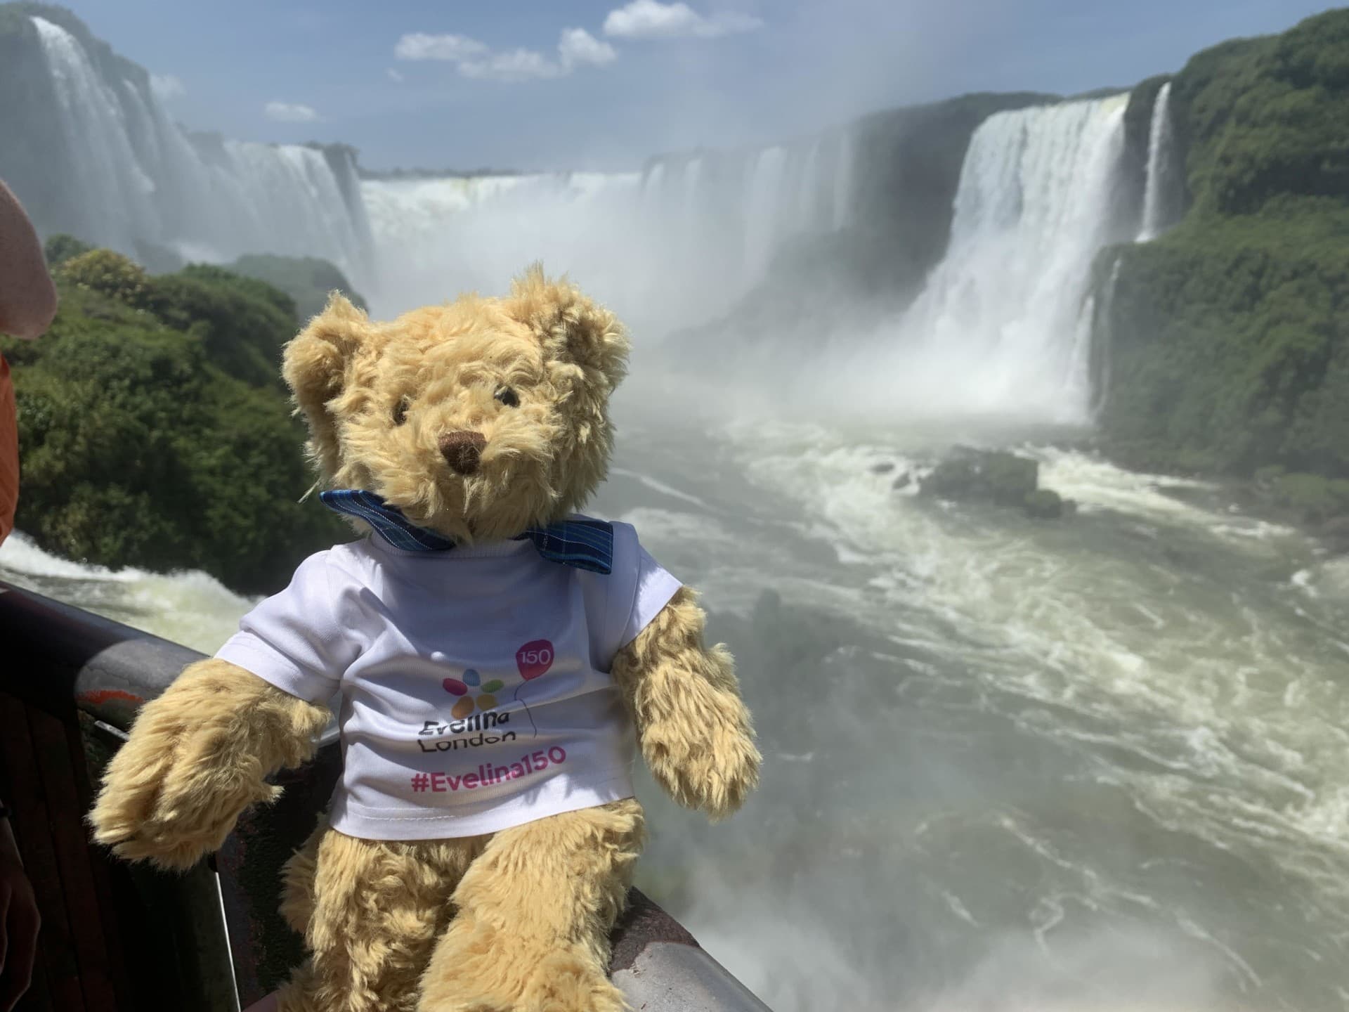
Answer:
MULTIPOLYGON (((0 582, 0 792, 43 912, 23 1008, 235 1012, 302 958, 278 913, 281 865, 339 773, 336 729, 277 777, 210 860, 174 876, 111 860, 84 815, 140 704, 201 657, 178 644, 0 582), (31 754, 30 754, 31 752, 31 754)), ((614 982, 645 1012, 769 1012, 637 889, 614 931, 614 982)))

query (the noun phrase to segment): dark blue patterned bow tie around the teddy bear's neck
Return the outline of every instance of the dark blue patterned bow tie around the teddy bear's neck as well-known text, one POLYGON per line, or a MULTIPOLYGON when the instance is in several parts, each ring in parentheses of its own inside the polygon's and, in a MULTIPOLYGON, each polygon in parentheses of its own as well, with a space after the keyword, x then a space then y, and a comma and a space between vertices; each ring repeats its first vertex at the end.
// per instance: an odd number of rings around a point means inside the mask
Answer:
MULTIPOLYGON (((324 506, 360 517, 394 548, 406 552, 448 552, 455 542, 434 530, 418 528, 383 498, 360 488, 318 493, 324 506)), ((546 528, 529 528, 518 540, 529 538, 538 553, 553 563, 575 565, 608 575, 614 568, 614 525, 602 519, 568 519, 546 528)))

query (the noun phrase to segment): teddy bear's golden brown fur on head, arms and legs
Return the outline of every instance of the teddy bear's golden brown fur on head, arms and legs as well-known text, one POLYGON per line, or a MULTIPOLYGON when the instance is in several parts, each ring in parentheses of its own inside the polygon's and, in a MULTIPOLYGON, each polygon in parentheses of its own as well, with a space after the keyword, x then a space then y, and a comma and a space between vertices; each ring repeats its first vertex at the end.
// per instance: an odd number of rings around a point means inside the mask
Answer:
MULTIPOLYGON (((604 479, 627 351, 611 313, 533 269, 506 298, 386 324, 335 294, 286 347, 283 374, 321 480, 490 541, 565 517, 604 479), (463 430, 484 437, 469 475, 437 447, 463 430)), ((681 590, 614 677, 657 783, 715 819, 754 788, 759 756, 731 656, 704 645, 703 625, 681 590)), ((266 777, 308 760, 326 721, 231 664, 192 665, 109 764, 94 838, 190 866, 275 796, 266 777)), ((642 834, 635 799, 464 839, 364 841, 320 823, 286 868, 282 912, 310 957, 281 1012, 618 1012, 608 932, 642 834)))

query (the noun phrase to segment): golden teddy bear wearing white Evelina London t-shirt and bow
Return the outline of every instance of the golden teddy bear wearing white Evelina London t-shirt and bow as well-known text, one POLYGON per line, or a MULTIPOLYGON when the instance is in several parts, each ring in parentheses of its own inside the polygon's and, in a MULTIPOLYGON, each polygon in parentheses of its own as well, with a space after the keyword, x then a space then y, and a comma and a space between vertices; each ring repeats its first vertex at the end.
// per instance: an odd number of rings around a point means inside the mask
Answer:
POLYGON ((283 872, 308 958, 281 1012, 618 1012, 637 753, 712 819, 755 787, 696 592, 577 513, 629 351, 537 264, 390 322, 333 293, 285 347, 320 498, 356 540, 140 710, 89 816, 117 855, 189 868, 336 716, 341 777, 283 872))

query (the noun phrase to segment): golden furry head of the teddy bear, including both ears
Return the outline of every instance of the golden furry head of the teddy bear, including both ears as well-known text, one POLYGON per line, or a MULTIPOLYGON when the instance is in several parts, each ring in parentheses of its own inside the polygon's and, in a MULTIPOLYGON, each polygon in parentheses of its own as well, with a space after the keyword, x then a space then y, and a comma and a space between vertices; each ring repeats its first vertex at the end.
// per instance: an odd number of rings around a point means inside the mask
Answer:
POLYGON ((612 313, 536 266, 506 298, 465 296, 391 322, 335 294, 286 345, 282 371, 322 483, 473 542, 561 519, 595 491, 627 352, 612 313))

